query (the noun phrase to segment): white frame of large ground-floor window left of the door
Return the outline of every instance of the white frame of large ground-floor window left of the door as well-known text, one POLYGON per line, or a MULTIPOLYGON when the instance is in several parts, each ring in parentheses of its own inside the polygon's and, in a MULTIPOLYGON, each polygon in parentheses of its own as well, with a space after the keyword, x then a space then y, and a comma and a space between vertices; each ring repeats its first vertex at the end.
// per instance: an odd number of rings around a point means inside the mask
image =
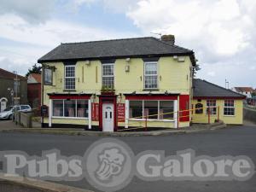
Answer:
POLYGON ((62 107, 62 113, 63 115, 62 116, 52 116, 52 118, 54 119, 89 119, 90 117, 90 100, 89 99, 72 99, 72 100, 75 100, 76 101, 76 108, 75 108, 75 117, 65 117, 65 100, 66 99, 52 99, 52 106, 51 106, 51 113, 54 114, 54 101, 55 100, 62 100, 62 103, 63 103, 63 107, 62 107), (77 117, 78 116, 78 100, 87 100, 88 101, 88 117, 77 117))

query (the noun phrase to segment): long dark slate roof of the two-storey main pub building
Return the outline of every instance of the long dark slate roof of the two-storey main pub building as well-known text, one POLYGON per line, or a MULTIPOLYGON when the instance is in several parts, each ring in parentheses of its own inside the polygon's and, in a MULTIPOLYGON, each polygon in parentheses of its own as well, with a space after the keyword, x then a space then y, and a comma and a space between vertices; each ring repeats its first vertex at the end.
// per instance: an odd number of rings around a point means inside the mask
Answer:
POLYGON ((38 59, 38 62, 114 59, 148 55, 190 55, 191 61, 195 64, 193 50, 168 44, 153 37, 60 44, 38 59))

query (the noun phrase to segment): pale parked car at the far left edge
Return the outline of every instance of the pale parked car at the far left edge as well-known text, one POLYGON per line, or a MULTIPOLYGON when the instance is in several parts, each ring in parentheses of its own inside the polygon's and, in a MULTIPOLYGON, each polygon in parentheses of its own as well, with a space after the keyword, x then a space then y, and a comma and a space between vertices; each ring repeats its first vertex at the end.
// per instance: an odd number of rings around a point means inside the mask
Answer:
POLYGON ((5 108, 3 112, 0 113, 0 119, 12 119, 15 110, 19 112, 31 112, 32 108, 29 105, 15 105, 5 108))

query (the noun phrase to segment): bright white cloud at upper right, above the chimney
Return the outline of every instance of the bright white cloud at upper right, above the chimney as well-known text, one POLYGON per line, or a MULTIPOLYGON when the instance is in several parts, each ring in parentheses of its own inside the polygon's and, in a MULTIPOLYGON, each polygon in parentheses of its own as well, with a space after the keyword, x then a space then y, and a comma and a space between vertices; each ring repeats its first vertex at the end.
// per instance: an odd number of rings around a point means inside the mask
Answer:
POLYGON ((145 33, 172 33, 178 42, 193 45, 191 49, 207 49, 213 55, 229 56, 245 49, 253 36, 255 18, 239 3, 236 0, 141 0, 126 15, 145 33))

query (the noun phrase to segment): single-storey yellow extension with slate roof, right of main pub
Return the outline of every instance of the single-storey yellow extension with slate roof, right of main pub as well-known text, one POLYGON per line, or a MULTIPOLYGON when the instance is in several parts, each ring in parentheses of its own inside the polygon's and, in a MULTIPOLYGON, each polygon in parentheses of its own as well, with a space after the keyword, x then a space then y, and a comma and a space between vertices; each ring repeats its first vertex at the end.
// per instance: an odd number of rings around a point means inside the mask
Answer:
POLYGON ((207 123, 221 119, 226 124, 242 124, 245 96, 206 80, 193 79, 192 122, 207 123))

